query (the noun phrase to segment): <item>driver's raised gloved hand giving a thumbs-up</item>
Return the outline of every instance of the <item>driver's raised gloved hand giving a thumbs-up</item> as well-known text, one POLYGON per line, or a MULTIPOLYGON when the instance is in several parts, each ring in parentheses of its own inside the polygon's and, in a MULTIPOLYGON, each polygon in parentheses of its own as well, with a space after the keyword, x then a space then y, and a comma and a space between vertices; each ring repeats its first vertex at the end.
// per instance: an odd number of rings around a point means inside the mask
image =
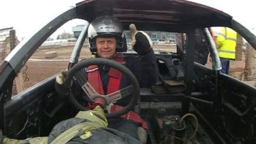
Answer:
POLYGON ((132 47, 138 54, 145 55, 152 49, 152 40, 144 31, 137 31, 134 24, 130 24, 132 47))

